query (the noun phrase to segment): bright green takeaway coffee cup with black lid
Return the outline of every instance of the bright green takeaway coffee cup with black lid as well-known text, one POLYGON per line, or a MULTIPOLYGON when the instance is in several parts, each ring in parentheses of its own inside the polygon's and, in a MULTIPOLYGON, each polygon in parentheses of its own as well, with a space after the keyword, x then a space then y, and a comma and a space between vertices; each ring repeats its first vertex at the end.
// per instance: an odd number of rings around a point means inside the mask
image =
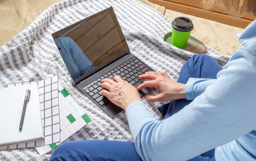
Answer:
POLYGON ((194 29, 192 21, 187 17, 177 17, 171 23, 173 27, 171 44, 178 48, 184 48, 187 45, 187 40, 194 29))

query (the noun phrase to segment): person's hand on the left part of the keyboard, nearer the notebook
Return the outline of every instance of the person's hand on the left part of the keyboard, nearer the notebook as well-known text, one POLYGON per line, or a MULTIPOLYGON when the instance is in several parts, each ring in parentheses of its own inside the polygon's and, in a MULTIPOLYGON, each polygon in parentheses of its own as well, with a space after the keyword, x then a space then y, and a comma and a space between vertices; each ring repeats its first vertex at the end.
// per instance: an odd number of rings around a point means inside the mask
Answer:
POLYGON ((130 103, 142 101, 138 90, 124 81, 120 76, 114 76, 113 79, 104 78, 101 80, 101 95, 107 97, 112 103, 126 110, 130 103))

